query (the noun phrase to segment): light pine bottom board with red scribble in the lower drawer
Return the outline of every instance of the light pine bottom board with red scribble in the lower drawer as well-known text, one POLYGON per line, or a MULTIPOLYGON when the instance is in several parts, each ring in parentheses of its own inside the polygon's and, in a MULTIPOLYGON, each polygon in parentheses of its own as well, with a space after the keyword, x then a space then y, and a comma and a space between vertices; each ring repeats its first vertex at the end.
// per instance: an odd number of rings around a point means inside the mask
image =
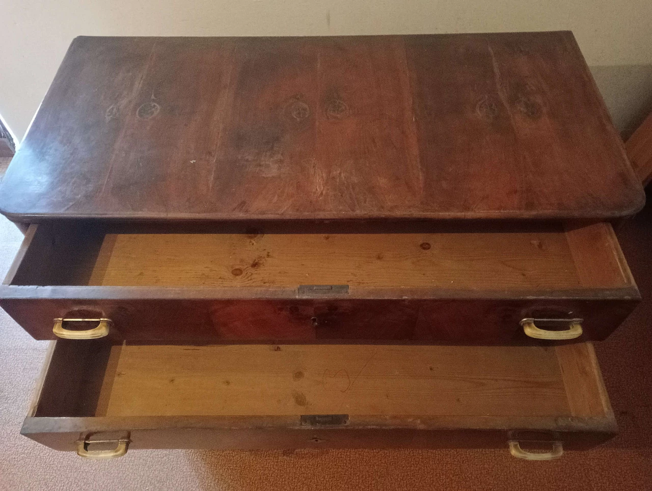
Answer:
POLYGON ((548 351, 123 346, 96 415, 570 415, 554 348, 548 351))

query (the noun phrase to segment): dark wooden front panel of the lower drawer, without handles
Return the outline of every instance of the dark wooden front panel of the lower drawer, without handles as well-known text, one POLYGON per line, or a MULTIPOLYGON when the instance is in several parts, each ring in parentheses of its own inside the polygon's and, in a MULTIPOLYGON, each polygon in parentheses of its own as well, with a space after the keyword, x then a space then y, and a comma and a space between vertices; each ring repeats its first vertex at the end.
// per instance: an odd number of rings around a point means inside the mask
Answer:
MULTIPOLYGON (((86 441, 129 441, 137 449, 286 450, 361 448, 503 448, 517 439, 541 447, 552 441, 565 450, 584 450, 612 438, 608 430, 417 430, 413 428, 226 428, 227 422, 165 418, 143 421, 111 421, 108 418, 70 418, 61 423, 53 418, 29 418, 22 434, 46 447, 76 451, 76 443, 86 441), (145 426, 145 427, 143 427, 145 426), (147 426, 155 426, 149 427, 147 426), (220 427, 222 426, 222 427, 220 427), (72 428, 75 428, 72 430, 72 428)), ((514 422, 511 422, 514 424, 514 422)), ((527 428, 527 427, 526 427, 527 428)))

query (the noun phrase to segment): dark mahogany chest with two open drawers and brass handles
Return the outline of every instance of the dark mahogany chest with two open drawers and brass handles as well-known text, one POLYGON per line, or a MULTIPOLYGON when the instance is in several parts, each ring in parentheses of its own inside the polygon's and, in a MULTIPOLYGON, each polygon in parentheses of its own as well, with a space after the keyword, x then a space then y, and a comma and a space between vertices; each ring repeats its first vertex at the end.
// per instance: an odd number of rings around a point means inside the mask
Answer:
POLYGON ((23 434, 590 447, 643 199, 571 33, 77 38, 0 189, 23 434))

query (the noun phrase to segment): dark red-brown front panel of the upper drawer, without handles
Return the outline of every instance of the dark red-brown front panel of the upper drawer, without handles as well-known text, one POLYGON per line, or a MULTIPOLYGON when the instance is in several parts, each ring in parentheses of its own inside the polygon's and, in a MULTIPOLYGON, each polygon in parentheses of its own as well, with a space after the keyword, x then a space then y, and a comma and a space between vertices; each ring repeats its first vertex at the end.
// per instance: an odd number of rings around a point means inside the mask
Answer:
POLYGON ((608 336, 636 305, 627 299, 4 299, 35 339, 55 318, 108 318, 115 338, 207 342, 385 340, 527 342, 524 318, 582 318, 582 339, 608 336))

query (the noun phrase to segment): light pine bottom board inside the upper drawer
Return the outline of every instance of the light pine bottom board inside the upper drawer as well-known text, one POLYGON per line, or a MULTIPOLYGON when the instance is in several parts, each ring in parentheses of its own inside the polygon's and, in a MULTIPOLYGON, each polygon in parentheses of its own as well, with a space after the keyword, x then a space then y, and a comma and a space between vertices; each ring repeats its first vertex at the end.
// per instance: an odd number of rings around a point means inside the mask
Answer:
MULTIPOLYGON (((602 244, 594 245, 602 246, 602 244)), ((563 231, 108 234, 89 284, 576 288, 563 231)))

